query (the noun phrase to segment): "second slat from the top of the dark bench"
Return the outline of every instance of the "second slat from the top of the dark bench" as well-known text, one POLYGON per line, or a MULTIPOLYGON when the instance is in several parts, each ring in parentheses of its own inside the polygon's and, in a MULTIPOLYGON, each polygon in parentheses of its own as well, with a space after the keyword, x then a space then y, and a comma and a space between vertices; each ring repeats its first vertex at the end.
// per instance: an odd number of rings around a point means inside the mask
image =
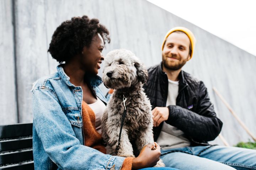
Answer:
POLYGON ((24 148, 32 148, 32 137, 10 141, 0 141, 0 152, 24 148))

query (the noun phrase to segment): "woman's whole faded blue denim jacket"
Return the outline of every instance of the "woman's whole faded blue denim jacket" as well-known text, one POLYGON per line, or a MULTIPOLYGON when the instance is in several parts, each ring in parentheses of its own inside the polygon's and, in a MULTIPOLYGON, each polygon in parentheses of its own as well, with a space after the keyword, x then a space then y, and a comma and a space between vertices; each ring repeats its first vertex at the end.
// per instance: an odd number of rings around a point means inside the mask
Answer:
MULTIPOLYGON (((58 72, 37 80, 32 88, 33 155, 36 170, 119 170, 124 158, 103 154, 84 146, 82 132, 82 89, 70 83, 62 65, 58 72)), ((107 103, 98 85, 98 76, 90 78, 98 98, 107 103)))

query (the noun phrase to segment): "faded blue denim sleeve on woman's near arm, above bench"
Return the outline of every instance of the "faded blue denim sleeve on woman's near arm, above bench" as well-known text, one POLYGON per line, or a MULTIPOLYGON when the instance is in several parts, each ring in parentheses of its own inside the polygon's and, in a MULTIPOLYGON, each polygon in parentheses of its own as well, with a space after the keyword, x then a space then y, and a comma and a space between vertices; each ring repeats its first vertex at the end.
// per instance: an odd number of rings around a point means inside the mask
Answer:
POLYGON ((59 100, 48 89, 33 91, 34 127, 49 158, 61 169, 121 169, 124 158, 103 154, 81 145, 62 111, 59 100))

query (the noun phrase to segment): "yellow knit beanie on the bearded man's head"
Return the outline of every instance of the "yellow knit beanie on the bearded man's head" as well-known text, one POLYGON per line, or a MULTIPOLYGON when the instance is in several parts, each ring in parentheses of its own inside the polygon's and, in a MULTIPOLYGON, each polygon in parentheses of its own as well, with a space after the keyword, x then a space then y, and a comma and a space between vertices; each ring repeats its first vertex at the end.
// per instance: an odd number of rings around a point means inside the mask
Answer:
POLYGON ((164 45, 165 45, 165 40, 166 38, 173 32, 175 31, 182 31, 183 33, 187 34, 188 38, 190 39, 190 43, 191 43, 191 54, 190 54, 190 59, 192 58, 193 56, 193 52, 194 52, 194 46, 195 46, 195 43, 196 43, 196 38, 194 37, 194 34, 191 32, 191 30, 185 28, 185 27, 175 27, 175 28, 172 28, 170 29, 166 35, 165 35, 165 38, 164 38, 164 41, 163 41, 163 44, 162 44, 162 50, 164 49, 164 45))

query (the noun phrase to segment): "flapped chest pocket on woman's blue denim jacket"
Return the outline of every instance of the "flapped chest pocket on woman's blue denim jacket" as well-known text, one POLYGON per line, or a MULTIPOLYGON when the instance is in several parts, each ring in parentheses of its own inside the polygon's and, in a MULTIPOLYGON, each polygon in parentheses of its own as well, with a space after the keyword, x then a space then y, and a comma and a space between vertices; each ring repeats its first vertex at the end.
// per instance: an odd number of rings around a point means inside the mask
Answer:
POLYGON ((66 114, 71 125, 77 126, 79 128, 82 127, 82 118, 80 111, 77 107, 66 107, 62 108, 63 112, 66 114))

